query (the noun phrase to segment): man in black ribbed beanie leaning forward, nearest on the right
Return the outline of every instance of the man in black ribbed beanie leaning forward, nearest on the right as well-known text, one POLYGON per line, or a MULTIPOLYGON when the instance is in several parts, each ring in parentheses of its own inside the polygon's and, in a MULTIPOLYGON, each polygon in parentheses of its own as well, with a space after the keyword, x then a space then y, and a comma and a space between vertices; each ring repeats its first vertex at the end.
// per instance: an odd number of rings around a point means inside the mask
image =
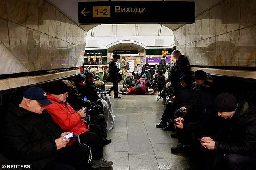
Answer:
POLYGON ((209 137, 202 137, 201 145, 227 155, 227 169, 245 170, 256 166, 256 106, 255 102, 229 93, 219 94, 214 104, 218 115, 230 119, 230 125, 220 127, 209 137))

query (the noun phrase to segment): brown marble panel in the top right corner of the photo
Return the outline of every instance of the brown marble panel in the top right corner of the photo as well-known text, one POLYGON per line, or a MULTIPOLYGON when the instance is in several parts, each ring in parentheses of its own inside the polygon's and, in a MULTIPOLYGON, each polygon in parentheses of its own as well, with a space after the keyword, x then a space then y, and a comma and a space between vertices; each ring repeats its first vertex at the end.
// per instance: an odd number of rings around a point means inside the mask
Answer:
POLYGON ((256 24, 256 1, 241 0, 240 29, 256 24))

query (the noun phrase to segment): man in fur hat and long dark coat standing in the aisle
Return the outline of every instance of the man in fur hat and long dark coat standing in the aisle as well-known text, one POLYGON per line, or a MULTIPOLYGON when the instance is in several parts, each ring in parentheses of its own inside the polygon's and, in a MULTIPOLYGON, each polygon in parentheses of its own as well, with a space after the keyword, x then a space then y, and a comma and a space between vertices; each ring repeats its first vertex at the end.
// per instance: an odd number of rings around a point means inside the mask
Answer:
POLYGON ((110 95, 111 91, 114 90, 114 98, 121 98, 118 96, 118 83, 120 82, 118 72, 119 69, 116 66, 116 63, 120 59, 120 55, 113 54, 112 59, 109 61, 109 82, 112 82, 113 85, 107 94, 110 95))

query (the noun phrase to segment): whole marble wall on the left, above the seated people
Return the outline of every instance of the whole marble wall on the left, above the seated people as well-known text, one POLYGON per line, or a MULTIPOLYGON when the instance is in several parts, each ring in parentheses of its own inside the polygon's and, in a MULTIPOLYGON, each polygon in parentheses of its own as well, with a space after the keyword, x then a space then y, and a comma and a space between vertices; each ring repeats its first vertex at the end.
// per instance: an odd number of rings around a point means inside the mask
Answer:
POLYGON ((0 75, 82 66, 85 39, 46 0, 0 0, 0 75))

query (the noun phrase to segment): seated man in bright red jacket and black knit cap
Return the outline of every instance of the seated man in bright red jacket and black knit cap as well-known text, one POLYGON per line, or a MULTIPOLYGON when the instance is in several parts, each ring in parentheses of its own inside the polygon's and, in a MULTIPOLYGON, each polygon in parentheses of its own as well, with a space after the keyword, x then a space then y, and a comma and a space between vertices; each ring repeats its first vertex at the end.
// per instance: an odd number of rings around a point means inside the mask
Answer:
MULTIPOLYGON (((81 143, 90 145, 92 150, 92 168, 110 167, 113 165, 112 161, 106 161, 103 158, 103 134, 99 125, 90 124, 81 119, 86 116, 84 107, 77 113, 66 102, 68 97, 68 86, 64 82, 55 82, 47 94, 47 98, 52 102, 51 105, 46 106, 46 111, 50 113, 52 119, 64 131, 74 132, 80 137, 81 143)), ((78 138, 70 139, 69 144, 77 144, 78 138)))

